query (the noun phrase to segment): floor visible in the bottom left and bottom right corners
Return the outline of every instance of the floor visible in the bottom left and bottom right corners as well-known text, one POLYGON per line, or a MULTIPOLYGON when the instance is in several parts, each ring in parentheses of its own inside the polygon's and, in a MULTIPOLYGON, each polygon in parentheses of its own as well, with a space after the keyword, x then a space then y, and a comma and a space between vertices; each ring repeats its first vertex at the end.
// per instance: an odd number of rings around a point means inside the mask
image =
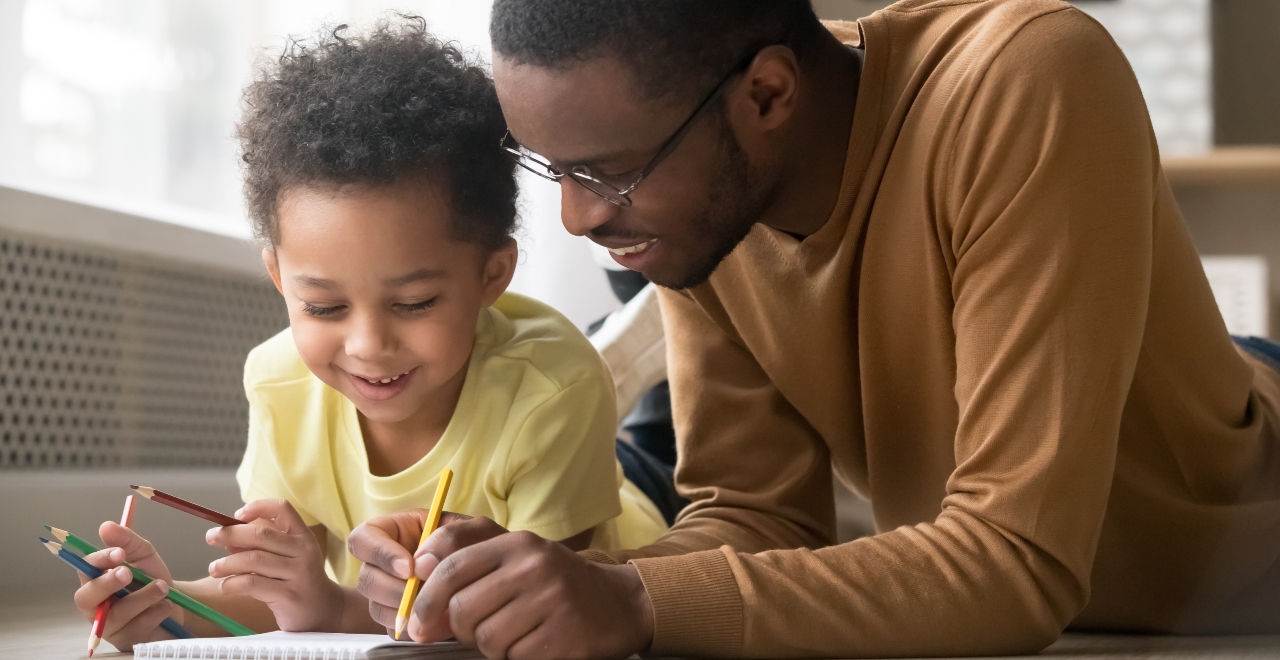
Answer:
MULTIPOLYGON (((86 657, 88 623, 79 619, 70 602, 4 593, 0 601, 0 659, 73 660, 86 657)), ((133 657, 111 652, 102 642, 93 659, 133 657)), ((1044 650, 1039 659, 1052 660, 1275 660, 1280 657, 1276 637, 1140 637, 1066 634, 1044 650)))

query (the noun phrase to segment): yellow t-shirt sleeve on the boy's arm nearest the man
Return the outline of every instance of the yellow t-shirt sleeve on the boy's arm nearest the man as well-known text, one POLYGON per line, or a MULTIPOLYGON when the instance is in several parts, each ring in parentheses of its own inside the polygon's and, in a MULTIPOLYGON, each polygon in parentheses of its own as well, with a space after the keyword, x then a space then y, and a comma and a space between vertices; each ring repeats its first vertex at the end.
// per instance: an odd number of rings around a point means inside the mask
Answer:
POLYGON ((561 541, 622 513, 616 427, 603 376, 579 380, 532 408, 507 460, 507 527, 561 541))

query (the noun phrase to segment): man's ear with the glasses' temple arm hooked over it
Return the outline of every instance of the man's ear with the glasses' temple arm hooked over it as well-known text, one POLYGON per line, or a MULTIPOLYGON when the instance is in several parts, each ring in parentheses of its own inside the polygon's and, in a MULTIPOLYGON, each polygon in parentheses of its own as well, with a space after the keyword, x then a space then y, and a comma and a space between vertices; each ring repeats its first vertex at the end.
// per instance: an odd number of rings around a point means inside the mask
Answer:
POLYGON ((800 63, 786 46, 768 46, 755 55, 746 69, 733 101, 748 128, 767 133, 782 127, 795 113, 800 91, 800 63), (744 109, 746 111, 744 111, 744 109))

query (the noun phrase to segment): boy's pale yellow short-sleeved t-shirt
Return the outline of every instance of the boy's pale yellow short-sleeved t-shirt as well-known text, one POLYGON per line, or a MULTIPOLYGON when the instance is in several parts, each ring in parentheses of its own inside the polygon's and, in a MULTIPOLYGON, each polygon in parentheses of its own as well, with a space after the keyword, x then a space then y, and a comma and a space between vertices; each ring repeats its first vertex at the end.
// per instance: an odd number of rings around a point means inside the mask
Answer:
POLYGON ((445 508, 562 540, 595 527, 595 549, 648 545, 666 531, 614 455, 613 385, 599 354, 550 307, 507 293, 480 312, 466 382, 440 441, 397 475, 369 471, 355 404, 303 365, 289 330, 244 365, 248 448, 236 473, 244 501, 280 498, 328 530, 332 577, 355 586, 347 535, 431 503, 453 469, 445 508))

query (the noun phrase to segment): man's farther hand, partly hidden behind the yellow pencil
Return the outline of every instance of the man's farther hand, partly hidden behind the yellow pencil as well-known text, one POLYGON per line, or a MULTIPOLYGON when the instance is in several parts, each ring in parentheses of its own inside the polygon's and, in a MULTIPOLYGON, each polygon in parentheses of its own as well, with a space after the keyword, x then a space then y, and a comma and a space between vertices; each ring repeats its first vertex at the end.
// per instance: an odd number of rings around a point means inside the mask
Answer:
MULTIPOLYGON (((434 556, 422 556, 422 553, 417 553, 420 550, 417 541, 422 537, 426 515, 426 509, 408 509, 390 515, 380 515, 356 527, 347 537, 347 550, 364 563, 360 567, 357 588, 362 596, 369 599, 369 615, 387 628, 387 634, 396 634, 396 611, 399 609, 410 570, 416 570, 419 577, 425 577, 435 567, 434 556)), ((471 519, 470 515, 444 512, 440 517, 440 527, 471 519)), ((488 522, 493 526, 489 531, 490 536, 507 532, 493 521, 488 522)), ((485 536, 485 538, 490 536, 485 536)), ((481 540, 477 537, 474 542, 481 540)), ((443 633, 440 640, 452 637, 448 633, 448 620, 444 618, 440 618, 435 629, 443 633)))

